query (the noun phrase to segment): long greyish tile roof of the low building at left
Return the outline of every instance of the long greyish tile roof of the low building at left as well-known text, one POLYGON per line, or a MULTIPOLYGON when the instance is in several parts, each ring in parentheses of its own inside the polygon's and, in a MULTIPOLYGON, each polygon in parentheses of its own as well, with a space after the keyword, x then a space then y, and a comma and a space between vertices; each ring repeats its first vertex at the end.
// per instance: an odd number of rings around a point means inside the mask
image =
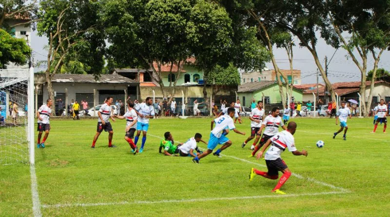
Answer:
POLYGON ((128 79, 121 75, 101 75, 95 80, 94 75, 80 74, 56 74, 53 76, 54 83, 138 83, 136 80, 128 79))

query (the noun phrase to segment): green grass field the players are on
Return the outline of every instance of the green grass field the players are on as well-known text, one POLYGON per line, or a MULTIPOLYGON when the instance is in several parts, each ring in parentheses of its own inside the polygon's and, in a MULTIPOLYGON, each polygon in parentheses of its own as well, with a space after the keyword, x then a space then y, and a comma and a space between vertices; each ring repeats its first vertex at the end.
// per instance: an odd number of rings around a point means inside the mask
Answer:
MULTIPOLYGON (((276 180, 256 176, 251 167, 266 170, 264 160, 248 158, 241 143, 250 133, 244 118, 231 132, 233 146, 223 158, 208 156, 195 164, 191 158, 158 154, 160 138, 170 131, 176 142, 196 132, 205 140, 211 118, 153 119, 144 153, 133 156, 123 139, 124 120, 113 123, 117 148, 107 147, 102 133, 91 149, 97 120, 51 120, 45 149, 36 149, 36 175, 43 216, 389 216, 389 134, 372 119, 348 120, 347 141, 332 139, 334 119, 292 119, 297 122, 295 144, 308 157, 286 151, 282 158, 293 176, 271 190, 276 180), (317 140, 325 147, 318 149, 317 140)), ((139 140, 141 142, 141 139, 139 140)), ((200 147, 206 145, 199 143, 200 147)), ((32 216, 30 167, 0 166, 0 216, 32 216)))

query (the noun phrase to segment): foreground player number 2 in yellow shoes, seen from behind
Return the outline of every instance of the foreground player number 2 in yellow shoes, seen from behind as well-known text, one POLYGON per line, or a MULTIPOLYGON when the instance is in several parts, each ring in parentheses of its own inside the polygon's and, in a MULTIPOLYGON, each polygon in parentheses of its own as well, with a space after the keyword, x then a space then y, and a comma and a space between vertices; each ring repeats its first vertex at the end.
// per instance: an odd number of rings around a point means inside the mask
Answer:
POLYGON ((260 171, 255 168, 251 169, 249 174, 249 180, 252 181, 255 175, 259 175, 269 179, 279 178, 279 171, 283 173, 282 177, 279 179, 275 188, 271 191, 275 194, 285 195, 286 193, 282 192, 280 188, 284 183, 290 178, 291 171, 288 168, 287 164, 280 158, 280 155, 286 150, 286 148, 292 152, 293 155, 299 156, 304 155, 308 156, 308 152, 302 150, 298 151, 294 144, 294 135, 296 130, 296 123, 290 122, 287 126, 287 130, 277 133, 272 138, 268 139, 261 151, 257 154, 257 159, 263 158, 263 154, 268 146, 272 145, 268 151, 265 153, 265 162, 267 164, 268 172, 260 171))

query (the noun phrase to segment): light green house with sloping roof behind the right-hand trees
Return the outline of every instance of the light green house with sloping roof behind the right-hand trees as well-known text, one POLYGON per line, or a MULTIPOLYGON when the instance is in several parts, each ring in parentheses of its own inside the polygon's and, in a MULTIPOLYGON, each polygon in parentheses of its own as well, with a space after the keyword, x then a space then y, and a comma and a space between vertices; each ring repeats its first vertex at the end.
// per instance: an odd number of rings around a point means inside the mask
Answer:
MULTIPOLYGON (((292 89, 292 100, 302 101, 302 90, 292 89)), ((279 93, 279 85, 276 81, 254 81, 244 83, 238 86, 238 98, 242 105, 249 106, 252 98, 262 100, 264 97, 265 104, 279 104, 282 98, 279 93)))

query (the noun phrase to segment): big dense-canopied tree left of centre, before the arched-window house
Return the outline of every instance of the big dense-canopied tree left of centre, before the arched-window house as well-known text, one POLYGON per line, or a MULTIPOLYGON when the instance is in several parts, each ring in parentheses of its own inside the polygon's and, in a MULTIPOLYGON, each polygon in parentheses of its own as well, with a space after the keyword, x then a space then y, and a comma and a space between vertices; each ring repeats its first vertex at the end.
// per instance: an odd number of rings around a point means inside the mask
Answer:
MULTIPOLYGON (((166 97, 161 65, 171 64, 169 73, 178 77, 181 64, 190 56, 188 24, 193 4, 192 0, 104 1, 104 25, 111 43, 108 54, 117 64, 152 69, 151 76, 166 97)), ((172 99, 176 81, 169 87, 172 99)))

